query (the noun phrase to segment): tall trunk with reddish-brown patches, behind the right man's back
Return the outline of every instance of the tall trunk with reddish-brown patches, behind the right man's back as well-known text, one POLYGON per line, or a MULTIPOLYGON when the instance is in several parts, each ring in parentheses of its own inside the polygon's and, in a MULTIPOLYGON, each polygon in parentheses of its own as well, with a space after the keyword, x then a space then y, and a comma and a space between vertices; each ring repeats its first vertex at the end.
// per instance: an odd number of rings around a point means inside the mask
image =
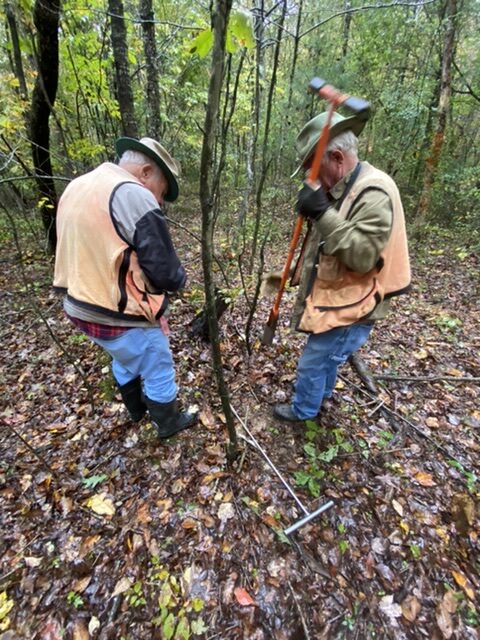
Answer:
POLYGON ((425 221, 430 208, 432 188, 437 173, 440 155, 445 139, 450 97, 452 95, 452 65, 455 52, 455 37, 457 29, 457 0, 446 0, 445 4, 445 33, 442 51, 442 73, 440 79, 440 96, 438 100, 437 127, 430 145, 430 154, 427 158, 425 174, 423 177, 423 189, 417 208, 416 226, 425 221))

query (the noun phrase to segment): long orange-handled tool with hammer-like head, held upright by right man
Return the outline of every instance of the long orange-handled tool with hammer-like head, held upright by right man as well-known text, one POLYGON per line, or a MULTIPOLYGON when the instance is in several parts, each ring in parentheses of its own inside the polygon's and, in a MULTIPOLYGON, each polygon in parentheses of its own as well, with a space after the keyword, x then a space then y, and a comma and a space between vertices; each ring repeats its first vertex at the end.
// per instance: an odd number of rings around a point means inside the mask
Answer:
MULTIPOLYGON (((322 129, 320 138, 315 147, 315 155, 313 156, 312 168, 310 170, 309 177, 306 180, 307 183, 313 185, 313 183, 317 181, 318 175, 320 173, 320 165, 322 164, 323 155, 328 144, 328 136, 330 133, 332 117, 337 108, 340 105, 344 105, 345 107, 353 111, 357 115, 357 117, 368 120, 368 117, 370 115, 370 104, 365 100, 362 100, 361 98, 355 98, 353 96, 348 96, 346 94, 340 93, 339 91, 337 91, 337 89, 332 87, 332 85, 327 84, 325 80, 322 80, 321 78, 313 78, 313 80, 311 80, 309 84, 309 89, 310 91, 317 93, 321 98, 327 100, 330 103, 327 121, 322 129)), ((275 335, 275 330, 278 323, 280 302, 285 290, 285 285, 288 279, 288 274, 290 272, 290 266, 292 264, 293 256, 295 254, 295 249, 297 248, 298 240, 302 232, 303 221, 303 216, 299 214, 295 223, 295 228, 293 230, 292 239, 290 240, 287 260, 285 262, 285 266, 283 267, 280 286, 278 288, 277 295, 275 296, 275 301, 273 303, 272 310, 270 311, 268 322, 265 325, 263 331, 262 343, 265 345, 270 345, 273 342, 273 336, 275 335)))

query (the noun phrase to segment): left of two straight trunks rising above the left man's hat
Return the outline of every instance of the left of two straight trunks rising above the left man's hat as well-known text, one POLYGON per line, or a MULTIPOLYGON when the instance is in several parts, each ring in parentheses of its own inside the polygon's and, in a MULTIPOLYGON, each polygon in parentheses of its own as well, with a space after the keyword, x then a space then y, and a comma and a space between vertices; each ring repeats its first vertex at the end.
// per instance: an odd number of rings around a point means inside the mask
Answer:
POLYGON ((137 121, 133 104, 132 84, 128 70, 127 30, 123 17, 122 0, 108 0, 108 13, 115 64, 116 97, 122 120, 122 133, 130 138, 138 137, 137 121))

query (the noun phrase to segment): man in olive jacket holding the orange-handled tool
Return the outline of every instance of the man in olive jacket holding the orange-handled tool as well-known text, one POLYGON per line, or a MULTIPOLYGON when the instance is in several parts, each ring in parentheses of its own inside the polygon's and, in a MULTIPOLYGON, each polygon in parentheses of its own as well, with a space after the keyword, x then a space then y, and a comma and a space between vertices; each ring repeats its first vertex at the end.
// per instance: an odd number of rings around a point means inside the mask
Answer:
MULTIPOLYGON (((326 113, 308 122, 297 138, 308 175, 326 113)), ((333 116, 329 143, 315 188, 304 185, 298 212, 309 221, 292 325, 309 334, 297 367, 291 404, 274 416, 315 418, 335 387, 337 368, 365 344, 390 298, 410 287, 402 203, 394 181, 359 162, 358 139, 365 121, 333 116)), ((294 174, 295 175, 295 174, 294 174)), ((295 274, 294 274, 295 279, 295 274)))

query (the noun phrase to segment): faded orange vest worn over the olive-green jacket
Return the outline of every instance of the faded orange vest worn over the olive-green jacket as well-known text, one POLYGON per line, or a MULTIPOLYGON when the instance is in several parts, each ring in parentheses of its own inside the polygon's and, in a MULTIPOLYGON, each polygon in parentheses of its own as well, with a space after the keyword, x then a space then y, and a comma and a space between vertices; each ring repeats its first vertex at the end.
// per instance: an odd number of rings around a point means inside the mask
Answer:
POLYGON ((384 191, 392 202, 390 238, 377 265, 368 273, 348 269, 335 256, 319 255, 316 274, 297 328, 323 333, 335 327, 367 320, 385 298, 406 293, 410 285, 410 263, 402 202, 394 181, 368 163, 343 201, 338 215, 348 219, 360 194, 369 188, 384 191))

